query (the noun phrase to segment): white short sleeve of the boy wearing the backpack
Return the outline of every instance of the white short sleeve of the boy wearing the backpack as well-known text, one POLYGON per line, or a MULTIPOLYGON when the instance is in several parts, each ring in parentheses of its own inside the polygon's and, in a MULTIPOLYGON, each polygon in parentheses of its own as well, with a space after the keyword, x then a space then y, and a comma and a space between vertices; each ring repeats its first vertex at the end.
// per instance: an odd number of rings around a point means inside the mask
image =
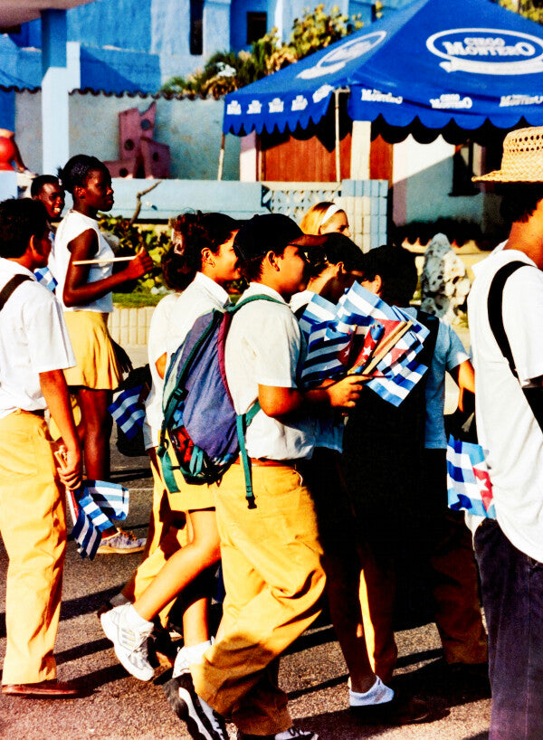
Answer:
POLYGON ((300 357, 300 327, 291 310, 261 314, 248 322, 245 341, 254 355, 254 380, 259 385, 295 388, 300 357))

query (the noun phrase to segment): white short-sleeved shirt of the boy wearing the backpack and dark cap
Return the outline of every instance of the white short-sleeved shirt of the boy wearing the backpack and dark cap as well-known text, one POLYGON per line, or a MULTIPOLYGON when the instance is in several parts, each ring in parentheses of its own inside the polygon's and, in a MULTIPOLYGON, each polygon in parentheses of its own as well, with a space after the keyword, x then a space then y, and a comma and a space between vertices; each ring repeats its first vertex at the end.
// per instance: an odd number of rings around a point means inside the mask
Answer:
MULTIPOLYGON (((226 337, 226 380, 236 413, 247 413, 258 399, 258 386, 296 388, 302 342, 296 317, 281 295, 261 283, 251 283, 242 299, 266 295, 279 301, 255 300, 233 316, 226 337)), ((252 458, 299 460, 310 458, 316 422, 305 413, 288 423, 259 411, 246 435, 252 458)))

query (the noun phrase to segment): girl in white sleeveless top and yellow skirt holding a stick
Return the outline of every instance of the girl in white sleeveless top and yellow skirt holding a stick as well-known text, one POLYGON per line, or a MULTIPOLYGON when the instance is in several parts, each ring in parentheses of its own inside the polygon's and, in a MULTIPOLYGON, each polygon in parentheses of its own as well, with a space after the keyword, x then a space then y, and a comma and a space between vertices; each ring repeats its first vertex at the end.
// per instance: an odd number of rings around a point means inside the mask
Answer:
MULTIPOLYGON (((65 372, 71 394, 81 409, 81 446, 89 479, 110 477, 111 391, 119 385, 125 361, 118 358, 108 332, 113 310, 111 292, 127 280, 151 269, 144 249, 128 267, 112 274, 113 251, 98 228, 99 211, 110 211, 113 189, 107 167, 96 157, 71 157, 60 172, 62 186, 71 193, 73 206, 59 224, 52 256, 52 269, 77 365, 65 372), (89 263, 81 264, 81 261, 89 263)), ((138 552, 128 533, 107 531, 102 552, 138 552)))

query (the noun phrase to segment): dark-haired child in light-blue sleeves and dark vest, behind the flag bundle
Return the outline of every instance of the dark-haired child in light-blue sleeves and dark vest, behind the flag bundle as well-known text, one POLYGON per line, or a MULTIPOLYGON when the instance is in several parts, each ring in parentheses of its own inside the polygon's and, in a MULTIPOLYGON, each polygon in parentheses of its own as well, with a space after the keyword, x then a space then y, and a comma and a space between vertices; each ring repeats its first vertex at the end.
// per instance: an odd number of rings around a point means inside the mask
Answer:
POLYGON ((409 308, 417 282, 413 255, 369 251, 361 285, 430 329, 417 359, 423 381, 395 407, 365 389, 349 414, 343 468, 367 550, 361 590, 367 647, 376 674, 390 680, 396 646, 395 582, 423 574, 433 584, 434 618, 448 664, 481 665, 487 651, 469 531, 446 508, 444 377, 473 390, 473 370, 451 327, 409 308))

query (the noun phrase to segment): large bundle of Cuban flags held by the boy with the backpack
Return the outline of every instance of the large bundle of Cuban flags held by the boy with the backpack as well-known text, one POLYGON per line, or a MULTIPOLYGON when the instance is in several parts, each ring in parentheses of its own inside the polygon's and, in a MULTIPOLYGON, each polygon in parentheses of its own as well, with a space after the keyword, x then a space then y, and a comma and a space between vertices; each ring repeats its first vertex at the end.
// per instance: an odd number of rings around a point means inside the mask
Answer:
POLYGON ((428 329, 358 283, 338 305, 314 296, 300 318, 300 328, 308 345, 301 371, 304 384, 371 368, 368 387, 398 406, 428 369, 416 359, 428 329), (362 349, 353 359, 356 343, 362 349), (380 356, 379 349, 386 347, 380 356), (378 362, 372 364, 372 357, 378 357, 378 362))

